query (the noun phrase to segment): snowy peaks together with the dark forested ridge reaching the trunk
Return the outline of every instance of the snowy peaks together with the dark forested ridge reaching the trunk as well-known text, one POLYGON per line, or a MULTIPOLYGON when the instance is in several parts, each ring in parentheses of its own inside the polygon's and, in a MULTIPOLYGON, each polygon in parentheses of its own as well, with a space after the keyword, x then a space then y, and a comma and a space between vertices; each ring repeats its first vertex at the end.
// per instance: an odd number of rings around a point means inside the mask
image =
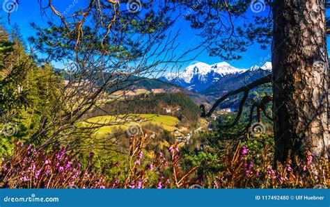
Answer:
POLYGON ((213 65, 196 63, 183 72, 168 73, 159 79, 207 96, 219 97, 271 73, 270 62, 249 69, 239 69, 226 62, 213 65))

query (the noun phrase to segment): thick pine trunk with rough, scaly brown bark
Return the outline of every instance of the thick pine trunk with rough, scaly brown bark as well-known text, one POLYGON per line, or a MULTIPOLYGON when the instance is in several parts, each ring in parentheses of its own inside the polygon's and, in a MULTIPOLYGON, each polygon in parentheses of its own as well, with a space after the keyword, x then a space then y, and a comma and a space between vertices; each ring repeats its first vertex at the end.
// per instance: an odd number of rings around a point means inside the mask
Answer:
POLYGON ((329 157, 324 7, 320 0, 274 1, 275 162, 302 156, 306 149, 315 159, 329 157))

